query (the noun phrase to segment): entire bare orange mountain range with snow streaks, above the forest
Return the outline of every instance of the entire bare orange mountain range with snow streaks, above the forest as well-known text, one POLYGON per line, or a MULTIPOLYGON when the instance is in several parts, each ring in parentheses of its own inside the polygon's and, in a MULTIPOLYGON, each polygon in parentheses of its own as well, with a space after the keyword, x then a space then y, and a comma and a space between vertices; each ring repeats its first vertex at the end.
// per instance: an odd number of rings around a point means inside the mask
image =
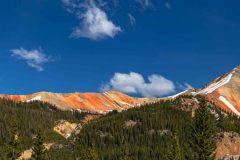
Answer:
POLYGON ((175 99, 180 95, 203 95, 220 108, 240 115, 240 67, 223 74, 202 89, 190 89, 179 94, 163 98, 135 98, 118 91, 104 93, 51 93, 38 92, 30 95, 0 95, 0 98, 14 101, 43 101, 55 105, 61 110, 78 110, 105 114, 113 110, 122 111, 146 103, 165 99, 175 99))

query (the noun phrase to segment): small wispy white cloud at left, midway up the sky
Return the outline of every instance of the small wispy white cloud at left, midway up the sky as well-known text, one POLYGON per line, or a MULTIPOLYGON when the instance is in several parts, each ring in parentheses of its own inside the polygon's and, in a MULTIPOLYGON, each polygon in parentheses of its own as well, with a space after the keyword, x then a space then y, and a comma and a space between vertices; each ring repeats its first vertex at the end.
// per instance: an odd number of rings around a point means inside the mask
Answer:
POLYGON ((50 57, 38 49, 26 50, 24 48, 19 48, 10 51, 12 52, 13 57, 25 60, 30 67, 33 67, 38 71, 43 71, 44 68, 42 65, 50 60, 50 57))

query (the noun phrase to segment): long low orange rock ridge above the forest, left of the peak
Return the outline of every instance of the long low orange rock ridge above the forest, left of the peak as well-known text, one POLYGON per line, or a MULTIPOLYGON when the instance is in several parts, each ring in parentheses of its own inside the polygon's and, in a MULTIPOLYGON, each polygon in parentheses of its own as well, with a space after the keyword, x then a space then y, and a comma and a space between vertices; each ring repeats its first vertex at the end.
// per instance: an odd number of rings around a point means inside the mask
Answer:
POLYGON ((39 100, 53 104, 62 110, 73 109, 95 113, 121 111, 158 100, 156 98, 134 98, 116 91, 69 94, 39 92, 31 95, 0 95, 0 97, 23 102, 39 100))

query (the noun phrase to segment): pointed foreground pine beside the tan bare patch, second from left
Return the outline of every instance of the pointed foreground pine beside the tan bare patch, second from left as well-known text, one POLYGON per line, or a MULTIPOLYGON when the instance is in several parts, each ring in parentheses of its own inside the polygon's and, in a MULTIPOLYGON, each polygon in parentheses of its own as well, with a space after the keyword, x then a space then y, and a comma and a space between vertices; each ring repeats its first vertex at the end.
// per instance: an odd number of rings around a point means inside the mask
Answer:
POLYGON ((33 146, 33 154, 32 154, 32 159, 33 160, 47 160, 47 153, 46 153, 46 148, 43 145, 43 133, 42 129, 38 129, 37 131, 37 136, 34 141, 34 146, 33 146))

